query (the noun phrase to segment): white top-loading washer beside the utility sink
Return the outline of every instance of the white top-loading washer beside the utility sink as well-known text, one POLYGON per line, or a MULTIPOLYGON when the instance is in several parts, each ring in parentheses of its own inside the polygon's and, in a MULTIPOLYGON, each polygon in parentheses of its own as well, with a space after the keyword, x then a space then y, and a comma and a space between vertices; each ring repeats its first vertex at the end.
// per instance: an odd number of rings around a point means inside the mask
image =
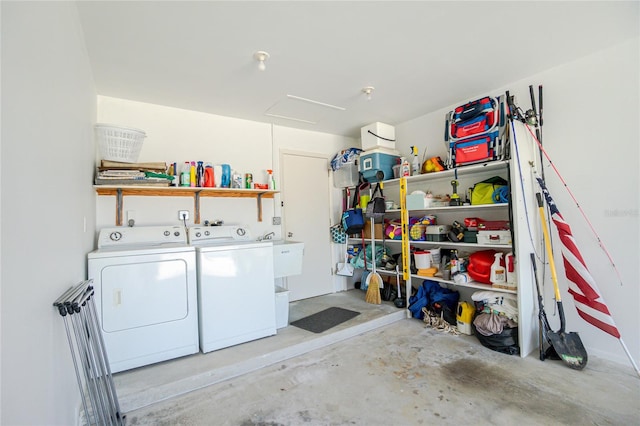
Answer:
POLYGON ((273 244, 243 226, 194 226, 204 353, 276 334, 273 244))

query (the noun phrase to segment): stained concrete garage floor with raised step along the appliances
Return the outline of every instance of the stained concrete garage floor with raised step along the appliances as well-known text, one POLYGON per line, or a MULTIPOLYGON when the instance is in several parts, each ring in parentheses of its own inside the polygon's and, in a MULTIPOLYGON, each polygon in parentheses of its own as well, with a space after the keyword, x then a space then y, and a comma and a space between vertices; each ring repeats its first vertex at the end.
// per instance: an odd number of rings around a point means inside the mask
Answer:
POLYGON ((575 371, 500 354, 359 290, 291 303, 290 321, 330 306, 361 315, 116 374, 127 424, 640 424, 630 366, 592 356, 575 371))

